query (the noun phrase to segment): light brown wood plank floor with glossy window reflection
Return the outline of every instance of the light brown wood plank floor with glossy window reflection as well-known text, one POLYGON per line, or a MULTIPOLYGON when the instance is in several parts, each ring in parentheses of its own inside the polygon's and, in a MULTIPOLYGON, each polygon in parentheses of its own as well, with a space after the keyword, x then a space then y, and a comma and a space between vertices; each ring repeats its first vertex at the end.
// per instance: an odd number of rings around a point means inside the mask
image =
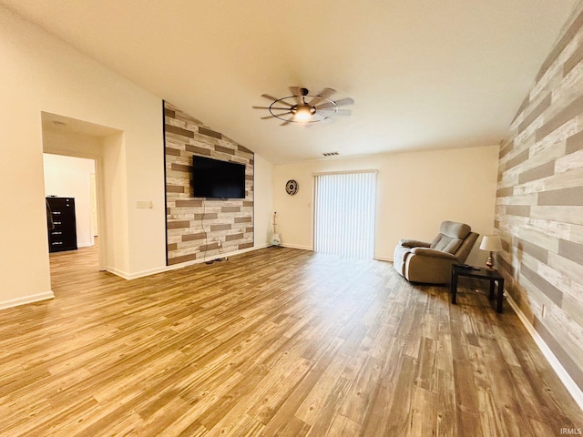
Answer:
POLYGON ((127 281, 51 255, 0 311, 0 435, 555 436, 583 414, 506 304, 261 249, 127 281))

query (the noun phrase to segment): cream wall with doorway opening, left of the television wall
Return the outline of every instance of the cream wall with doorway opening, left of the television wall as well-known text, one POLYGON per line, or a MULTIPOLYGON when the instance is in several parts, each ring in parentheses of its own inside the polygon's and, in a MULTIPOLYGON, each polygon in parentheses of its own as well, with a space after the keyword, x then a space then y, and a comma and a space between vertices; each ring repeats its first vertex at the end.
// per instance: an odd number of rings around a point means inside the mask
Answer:
MULTIPOLYGON (((118 168, 108 181, 118 229, 107 264, 138 276, 165 267, 162 103, 54 36, 0 6, 0 198, 17 211, 2 215, 0 307, 50 297, 41 113, 123 132, 118 168), (154 208, 136 209, 137 200, 154 208), (26 244, 23 242, 26 241, 26 244), (26 259, 26 262, 23 260, 26 259)), ((119 142, 120 141, 120 142, 119 142)), ((107 182, 107 181, 106 181, 107 182)))

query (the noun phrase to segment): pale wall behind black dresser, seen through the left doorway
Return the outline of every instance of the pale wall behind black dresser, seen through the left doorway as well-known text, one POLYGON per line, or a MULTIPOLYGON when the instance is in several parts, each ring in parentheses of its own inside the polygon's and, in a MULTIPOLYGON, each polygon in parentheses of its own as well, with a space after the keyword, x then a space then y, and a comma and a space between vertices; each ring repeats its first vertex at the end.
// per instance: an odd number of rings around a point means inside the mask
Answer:
POLYGON ((77 247, 93 246, 91 175, 95 161, 86 158, 44 154, 45 195, 75 198, 77 247))

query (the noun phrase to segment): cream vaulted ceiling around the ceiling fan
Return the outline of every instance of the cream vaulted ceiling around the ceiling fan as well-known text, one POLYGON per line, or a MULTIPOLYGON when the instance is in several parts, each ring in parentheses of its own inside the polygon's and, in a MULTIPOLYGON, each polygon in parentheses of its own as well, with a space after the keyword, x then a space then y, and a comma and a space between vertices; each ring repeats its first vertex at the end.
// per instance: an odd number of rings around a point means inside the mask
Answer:
POLYGON ((274 164, 498 144, 578 0, 0 0, 274 164), (288 86, 350 117, 261 120, 288 86))

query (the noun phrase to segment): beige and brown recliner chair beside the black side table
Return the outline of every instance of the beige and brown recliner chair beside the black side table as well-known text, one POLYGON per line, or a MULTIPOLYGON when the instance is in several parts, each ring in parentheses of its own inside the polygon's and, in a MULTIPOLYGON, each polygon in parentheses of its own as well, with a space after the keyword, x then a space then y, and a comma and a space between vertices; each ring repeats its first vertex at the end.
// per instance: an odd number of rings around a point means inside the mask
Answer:
POLYGON ((453 264, 463 264, 479 234, 464 223, 444 221, 433 242, 401 239, 394 248, 393 265, 411 282, 446 284, 453 264))

